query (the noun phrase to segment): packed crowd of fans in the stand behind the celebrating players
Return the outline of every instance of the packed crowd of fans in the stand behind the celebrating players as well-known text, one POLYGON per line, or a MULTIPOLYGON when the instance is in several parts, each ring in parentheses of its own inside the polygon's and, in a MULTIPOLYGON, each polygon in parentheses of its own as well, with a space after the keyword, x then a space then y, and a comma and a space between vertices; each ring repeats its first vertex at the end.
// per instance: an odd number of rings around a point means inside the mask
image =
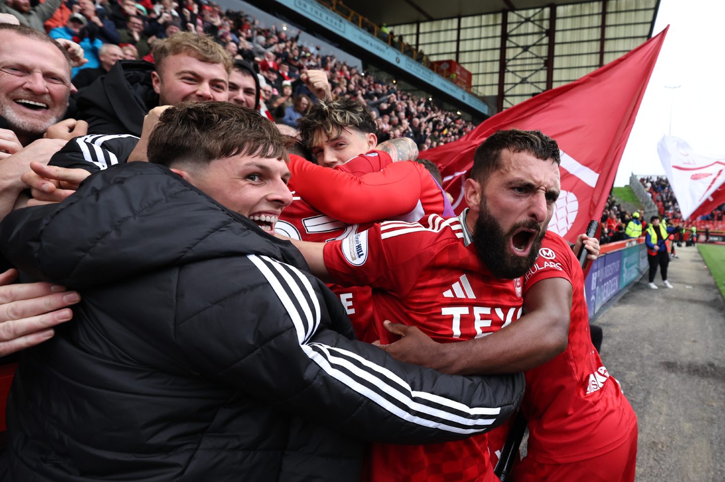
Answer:
POLYGON ((359 99, 376 119, 379 141, 408 137, 421 151, 456 141, 473 129, 471 122, 447 112, 430 97, 419 98, 395 83, 365 75, 340 62, 320 46, 299 42, 275 25, 265 28, 244 12, 223 12, 206 0, 0 0, 0 12, 16 14, 21 23, 44 28, 52 38, 83 47, 87 63, 76 67, 73 83, 84 88, 107 73, 118 59, 153 62, 152 47, 180 31, 207 34, 234 58, 258 72, 260 112, 275 122, 297 127, 317 99, 300 81, 307 70, 322 70, 334 96, 359 99), (25 20, 25 21, 24 21, 25 20))

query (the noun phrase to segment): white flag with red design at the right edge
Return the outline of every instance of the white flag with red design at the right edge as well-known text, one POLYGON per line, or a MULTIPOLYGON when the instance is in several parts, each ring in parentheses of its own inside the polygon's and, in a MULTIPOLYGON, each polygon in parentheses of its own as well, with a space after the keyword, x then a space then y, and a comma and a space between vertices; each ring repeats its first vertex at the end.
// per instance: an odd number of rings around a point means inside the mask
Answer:
POLYGON ((725 157, 695 154, 687 142, 674 136, 664 136, 657 151, 682 219, 687 220, 725 182, 725 157))

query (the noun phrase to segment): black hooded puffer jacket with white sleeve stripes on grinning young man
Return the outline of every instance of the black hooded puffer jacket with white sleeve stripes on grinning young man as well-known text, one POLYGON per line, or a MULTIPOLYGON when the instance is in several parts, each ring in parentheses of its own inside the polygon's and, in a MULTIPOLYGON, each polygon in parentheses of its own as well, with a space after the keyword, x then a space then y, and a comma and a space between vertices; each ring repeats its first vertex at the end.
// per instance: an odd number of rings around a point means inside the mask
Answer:
POLYGON ((521 375, 442 375, 354 341, 296 249, 165 167, 92 175, 0 239, 83 296, 22 353, 9 481, 353 481, 361 441, 460 439, 523 394, 521 375))

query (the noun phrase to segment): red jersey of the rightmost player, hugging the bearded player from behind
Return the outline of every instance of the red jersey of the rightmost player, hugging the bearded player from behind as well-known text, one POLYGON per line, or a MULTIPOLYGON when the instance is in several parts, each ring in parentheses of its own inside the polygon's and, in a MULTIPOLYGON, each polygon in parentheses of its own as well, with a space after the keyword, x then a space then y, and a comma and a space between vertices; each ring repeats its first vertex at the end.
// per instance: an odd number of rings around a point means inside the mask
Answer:
MULTIPOLYGON (((566 350, 526 372, 521 410, 529 422, 526 457, 549 464, 577 462, 622 444, 636 422, 619 383, 602 364, 589 334, 584 275, 568 243, 547 231, 539 257, 524 276, 523 292, 538 281, 564 278, 573 287, 566 350)), ((491 452, 502 434, 492 432, 491 452)), ((501 445, 501 446, 500 446, 501 445)))

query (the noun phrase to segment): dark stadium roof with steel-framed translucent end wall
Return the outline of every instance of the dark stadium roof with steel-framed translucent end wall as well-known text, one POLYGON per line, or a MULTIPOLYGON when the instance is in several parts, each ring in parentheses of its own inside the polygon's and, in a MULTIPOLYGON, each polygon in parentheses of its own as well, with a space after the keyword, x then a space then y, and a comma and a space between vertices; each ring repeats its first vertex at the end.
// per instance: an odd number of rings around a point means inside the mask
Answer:
MULTIPOLYGON (((336 5, 336 0, 318 0, 336 5)), ((660 0, 345 0, 497 111, 572 82, 653 36, 660 0), (442 63, 447 66, 451 64, 442 63), (454 74, 452 74, 454 75, 454 74)), ((340 10, 338 10, 340 11, 340 10)), ((343 17, 347 16, 341 9, 343 17)), ((355 19, 360 20, 355 20, 355 19)))

